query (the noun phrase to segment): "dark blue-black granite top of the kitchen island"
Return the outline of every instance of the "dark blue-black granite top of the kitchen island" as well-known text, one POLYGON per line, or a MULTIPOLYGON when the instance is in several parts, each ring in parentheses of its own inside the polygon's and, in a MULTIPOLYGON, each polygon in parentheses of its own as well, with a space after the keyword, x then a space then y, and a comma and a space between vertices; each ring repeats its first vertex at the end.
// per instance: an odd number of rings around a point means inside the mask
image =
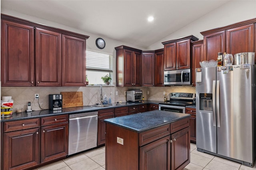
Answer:
POLYGON ((183 113, 170 113, 169 111, 148 111, 134 115, 105 119, 104 122, 120 126, 141 133, 168 123, 190 117, 183 113))

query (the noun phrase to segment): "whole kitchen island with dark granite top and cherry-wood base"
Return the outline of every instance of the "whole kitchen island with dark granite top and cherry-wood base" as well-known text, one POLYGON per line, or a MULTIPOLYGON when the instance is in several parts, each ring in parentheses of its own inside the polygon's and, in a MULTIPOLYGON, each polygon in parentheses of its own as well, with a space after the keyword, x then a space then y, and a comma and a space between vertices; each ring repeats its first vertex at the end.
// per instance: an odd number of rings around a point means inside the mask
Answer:
POLYGON ((106 170, 176 170, 190 162, 190 115, 149 111, 106 119, 106 170))

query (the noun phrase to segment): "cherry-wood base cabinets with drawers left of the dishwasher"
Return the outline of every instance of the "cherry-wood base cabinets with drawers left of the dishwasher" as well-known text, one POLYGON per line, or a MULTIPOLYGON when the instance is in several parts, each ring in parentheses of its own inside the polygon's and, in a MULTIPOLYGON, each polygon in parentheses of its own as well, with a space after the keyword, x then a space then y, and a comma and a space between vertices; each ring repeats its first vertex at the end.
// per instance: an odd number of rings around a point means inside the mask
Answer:
POLYGON ((68 155, 68 115, 4 122, 1 132, 1 169, 31 169, 68 155))

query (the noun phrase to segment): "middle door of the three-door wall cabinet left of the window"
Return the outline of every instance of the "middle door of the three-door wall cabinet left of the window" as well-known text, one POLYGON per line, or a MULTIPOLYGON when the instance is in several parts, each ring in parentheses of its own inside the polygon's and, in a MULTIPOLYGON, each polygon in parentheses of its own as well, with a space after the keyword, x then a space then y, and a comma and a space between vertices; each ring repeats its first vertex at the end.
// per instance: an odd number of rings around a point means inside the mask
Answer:
POLYGON ((61 34, 36 28, 36 86, 62 85, 61 34))

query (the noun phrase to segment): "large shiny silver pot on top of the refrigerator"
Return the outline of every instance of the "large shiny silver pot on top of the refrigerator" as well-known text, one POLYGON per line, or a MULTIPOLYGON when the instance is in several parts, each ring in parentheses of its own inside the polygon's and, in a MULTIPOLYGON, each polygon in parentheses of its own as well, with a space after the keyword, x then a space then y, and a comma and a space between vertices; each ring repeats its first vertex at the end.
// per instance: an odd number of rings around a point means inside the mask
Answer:
POLYGON ((242 52, 234 55, 234 65, 255 64, 255 52, 242 52))

